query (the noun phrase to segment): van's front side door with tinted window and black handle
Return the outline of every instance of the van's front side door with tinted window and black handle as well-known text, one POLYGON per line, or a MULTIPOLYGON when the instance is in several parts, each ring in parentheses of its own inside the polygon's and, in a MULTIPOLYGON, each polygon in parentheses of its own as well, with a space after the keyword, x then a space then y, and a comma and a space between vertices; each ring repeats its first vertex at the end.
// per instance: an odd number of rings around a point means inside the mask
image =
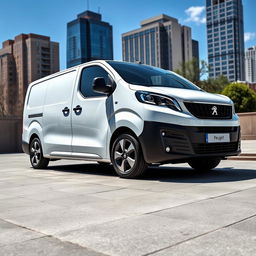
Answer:
POLYGON ((103 77, 107 83, 109 73, 101 65, 84 67, 74 91, 72 104, 72 152, 82 157, 104 158, 109 124, 106 105, 108 96, 93 91, 93 80, 103 77))

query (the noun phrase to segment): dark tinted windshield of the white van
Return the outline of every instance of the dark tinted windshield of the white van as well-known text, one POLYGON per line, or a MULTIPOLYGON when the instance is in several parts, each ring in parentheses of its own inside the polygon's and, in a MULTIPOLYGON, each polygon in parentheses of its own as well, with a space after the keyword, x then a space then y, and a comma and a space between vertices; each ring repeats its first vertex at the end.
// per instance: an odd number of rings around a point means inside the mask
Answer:
POLYGON ((118 61, 107 63, 129 84, 201 90, 187 79, 161 68, 118 61))

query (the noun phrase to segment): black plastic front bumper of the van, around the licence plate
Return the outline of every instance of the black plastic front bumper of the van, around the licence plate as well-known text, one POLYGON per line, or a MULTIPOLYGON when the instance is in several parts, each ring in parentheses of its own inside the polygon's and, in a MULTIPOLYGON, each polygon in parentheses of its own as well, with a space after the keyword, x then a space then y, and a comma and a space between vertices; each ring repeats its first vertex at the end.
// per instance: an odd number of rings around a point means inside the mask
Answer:
POLYGON ((196 127, 146 121, 139 141, 147 163, 181 163, 196 157, 225 158, 241 153, 239 126, 196 127), (206 143, 206 133, 229 133, 230 142, 206 143))

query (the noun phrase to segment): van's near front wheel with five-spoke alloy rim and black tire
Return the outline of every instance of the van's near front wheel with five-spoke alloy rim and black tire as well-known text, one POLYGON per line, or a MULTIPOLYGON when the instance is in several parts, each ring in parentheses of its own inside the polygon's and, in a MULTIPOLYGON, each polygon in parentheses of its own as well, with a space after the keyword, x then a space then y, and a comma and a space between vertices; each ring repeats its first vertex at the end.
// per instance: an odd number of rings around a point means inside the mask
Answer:
POLYGON ((111 162, 121 178, 135 178, 147 169, 140 144, 129 134, 119 135, 111 148, 111 162))

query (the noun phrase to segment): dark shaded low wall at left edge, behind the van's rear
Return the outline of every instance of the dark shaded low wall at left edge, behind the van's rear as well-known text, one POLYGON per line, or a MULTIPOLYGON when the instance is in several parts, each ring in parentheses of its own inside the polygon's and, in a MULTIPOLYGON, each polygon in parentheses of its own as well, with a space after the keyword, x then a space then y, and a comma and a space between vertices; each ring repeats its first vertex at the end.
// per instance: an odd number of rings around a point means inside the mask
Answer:
POLYGON ((0 119, 0 154, 22 152, 22 119, 0 119))

